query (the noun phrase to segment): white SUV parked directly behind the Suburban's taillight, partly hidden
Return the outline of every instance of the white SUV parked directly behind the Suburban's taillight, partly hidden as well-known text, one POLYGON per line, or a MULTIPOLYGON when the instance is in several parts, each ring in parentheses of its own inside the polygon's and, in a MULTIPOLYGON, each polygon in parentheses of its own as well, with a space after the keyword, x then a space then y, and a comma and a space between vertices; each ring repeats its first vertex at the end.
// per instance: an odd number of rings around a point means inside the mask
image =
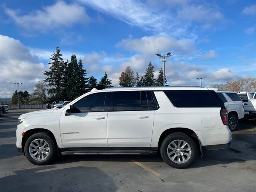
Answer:
POLYGON ((236 92, 232 91, 216 91, 216 93, 228 110, 228 128, 231 131, 236 130, 238 121, 244 118, 244 105, 241 98, 236 92))

